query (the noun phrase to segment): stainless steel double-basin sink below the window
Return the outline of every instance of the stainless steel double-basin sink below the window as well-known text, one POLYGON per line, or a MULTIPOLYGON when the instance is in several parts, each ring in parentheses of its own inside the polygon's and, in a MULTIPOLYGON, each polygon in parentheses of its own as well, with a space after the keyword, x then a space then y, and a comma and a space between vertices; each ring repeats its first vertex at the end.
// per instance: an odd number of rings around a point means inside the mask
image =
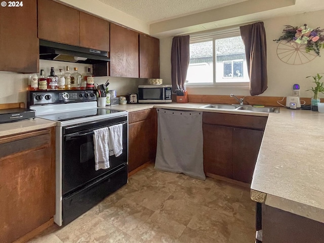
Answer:
POLYGON ((228 105, 228 104, 209 104, 199 108, 225 109, 225 110, 246 110, 252 112, 279 113, 279 107, 253 107, 251 105, 228 105))

